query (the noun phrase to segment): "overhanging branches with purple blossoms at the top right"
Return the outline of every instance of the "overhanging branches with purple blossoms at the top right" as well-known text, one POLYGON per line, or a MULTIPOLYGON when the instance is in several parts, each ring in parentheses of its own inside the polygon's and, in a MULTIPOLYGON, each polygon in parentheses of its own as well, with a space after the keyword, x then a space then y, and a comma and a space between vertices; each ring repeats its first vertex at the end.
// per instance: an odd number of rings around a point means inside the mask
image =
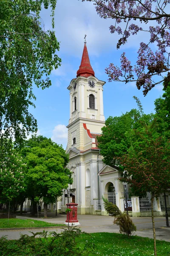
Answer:
MULTIPOLYGON (((82 2, 84 1, 82 0, 82 2)), ((168 72, 170 71, 169 0, 87 1, 94 2, 100 17, 111 19, 110 32, 120 35, 117 48, 126 44, 130 36, 138 33, 141 35, 144 33, 142 38, 146 38, 146 41, 140 43, 136 65, 133 66, 123 52, 120 58, 120 67, 111 63, 106 68, 109 81, 125 83, 136 81, 138 89, 143 87, 144 96, 156 84, 163 81, 164 87, 167 87, 170 81, 170 72, 168 72)))

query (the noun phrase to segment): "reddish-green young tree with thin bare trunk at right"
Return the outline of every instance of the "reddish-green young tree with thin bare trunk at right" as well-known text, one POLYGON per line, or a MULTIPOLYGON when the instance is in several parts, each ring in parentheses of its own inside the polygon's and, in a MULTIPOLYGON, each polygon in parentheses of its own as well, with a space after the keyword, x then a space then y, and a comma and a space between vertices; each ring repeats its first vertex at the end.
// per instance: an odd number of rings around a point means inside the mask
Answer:
POLYGON ((120 163, 126 171, 122 181, 130 184, 136 195, 146 195, 147 192, 151 194, 155 256, 157 253, 153 200, 170 189, 170 140, 165 141, 164 137, 158 137, 156 128, 154 119, 152 124, 144 126, 143 131, 136 130, 139 139, 133 143, 127 154, 120 158, 120 163))

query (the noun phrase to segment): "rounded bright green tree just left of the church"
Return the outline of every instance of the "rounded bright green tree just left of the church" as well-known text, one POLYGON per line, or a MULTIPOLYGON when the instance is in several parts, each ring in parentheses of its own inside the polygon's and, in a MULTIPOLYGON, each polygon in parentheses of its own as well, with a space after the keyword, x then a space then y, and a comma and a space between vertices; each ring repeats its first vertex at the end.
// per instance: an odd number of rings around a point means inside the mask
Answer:
POLYGON ((71 172, 66 168, 68 154, 62 146, 51 139, 38 136, 25 142, 21 150, 27 163, 26 180, 30 198, 44 202, 44 217, 47 217, 47 205, 55 202, 72 183, 71 172))

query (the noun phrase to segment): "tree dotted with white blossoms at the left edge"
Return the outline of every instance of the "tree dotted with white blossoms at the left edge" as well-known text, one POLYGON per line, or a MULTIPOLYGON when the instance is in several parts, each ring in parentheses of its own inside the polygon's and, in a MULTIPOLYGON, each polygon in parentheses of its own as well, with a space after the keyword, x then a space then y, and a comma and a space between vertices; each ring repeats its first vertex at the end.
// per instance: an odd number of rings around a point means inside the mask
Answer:
POLYGON ((8 203, 25 191, 26 164, 10 140, 0 143, 0 202, 8 203))

